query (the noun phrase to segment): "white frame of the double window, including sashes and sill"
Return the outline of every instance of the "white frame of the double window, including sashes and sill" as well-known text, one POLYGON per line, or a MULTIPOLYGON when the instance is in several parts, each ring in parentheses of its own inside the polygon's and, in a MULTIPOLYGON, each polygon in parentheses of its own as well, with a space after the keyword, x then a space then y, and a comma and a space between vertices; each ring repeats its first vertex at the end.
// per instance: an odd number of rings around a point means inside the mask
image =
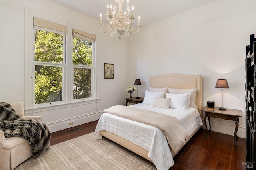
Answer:
MULTIPOLYGON (((96 97, 96 68, 95 68, 95 42, 93 43, 93 49, 92 49, 92 66, 85 66, 87 68, 90 68, 92 70, 92 77, 91 77, 91 93, 92 97, 88 98, 82 98, 82 99, 73 99, 73 71, 74 66, 72 62, 70 63, 70 57, 72 61, 72 42, 73 36, 72 36, 72 29, 73 27, 70 27, 72 25, 70 22, 63 22, 60 20, 56 20, 53 18, 49 18, 49 16, 40 16, 40 18, 43 18, 45 20, 49 20, 51 22, 56 22, 57 24, 62 24, 67 26, 67 34, 66 34, 66 50, 64 50, 64 58, 63 63, 54 63, 57 65, 62 65, 64 68, 63 72, 63 92, 65 92, 65 95, 62 96, 63 101, 54 102, 52 105, 48 104, 41 104, 41 105, 34 105, 34 70, 35 70, 35 64, 39 64, 38 61, 35 63, 34 61, 34 22, 33 22, 33 12, 29 8, 25 8, 25 84, 24 84, 24 103, 25 103, 25 111, 26 114, 30 113, 36 113, 41 111, 47 111, 51 109, 60 109, 65 107, 71 107, 71 106, 78 106, 78 105, 84 105, 84 104, 91 104, 91 103, 98 103, 99 99, 96 97), (70 46, 71 45, 71 46, 70 46), (70 51, 71 50, 71 51, 70 51), (68 57, 70 56, 70 57, 68 57), (64 62, 65 61, 65 62, 64 62), (70 83, 72 81, 72 83, 70 83)), ((78 26, 79 27, 79 26, 78 26)), ((49 30, 46 30, 49 31, 49 30)))

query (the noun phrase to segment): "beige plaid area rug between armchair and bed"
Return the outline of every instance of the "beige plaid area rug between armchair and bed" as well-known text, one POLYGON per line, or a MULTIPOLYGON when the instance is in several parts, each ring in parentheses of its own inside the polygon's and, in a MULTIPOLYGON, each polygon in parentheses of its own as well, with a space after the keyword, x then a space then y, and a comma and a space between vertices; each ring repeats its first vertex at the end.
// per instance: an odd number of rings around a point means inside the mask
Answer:
POLYGON ((156 170, 154 164, 94 132, 51 146, 15 170, 156 170))

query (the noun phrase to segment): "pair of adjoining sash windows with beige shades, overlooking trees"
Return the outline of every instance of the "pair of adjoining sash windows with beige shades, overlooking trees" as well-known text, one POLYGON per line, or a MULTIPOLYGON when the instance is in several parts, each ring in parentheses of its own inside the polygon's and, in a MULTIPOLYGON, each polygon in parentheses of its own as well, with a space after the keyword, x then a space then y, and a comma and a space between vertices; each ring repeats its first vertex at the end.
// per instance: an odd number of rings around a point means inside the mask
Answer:
POLYGON ((68 35, 66 26, 34 17, 34 106, 94 98, 94 42, 92 34, 73 29, 68 35))

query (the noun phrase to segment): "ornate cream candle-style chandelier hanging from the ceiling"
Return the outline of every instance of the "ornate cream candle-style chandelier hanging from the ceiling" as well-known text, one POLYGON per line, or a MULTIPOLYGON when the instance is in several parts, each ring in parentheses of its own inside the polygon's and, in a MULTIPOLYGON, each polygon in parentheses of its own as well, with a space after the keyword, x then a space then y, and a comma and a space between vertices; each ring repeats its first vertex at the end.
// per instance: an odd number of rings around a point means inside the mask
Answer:
POLYGON ((112 8, 112 5, 108 5, 107 6, 107 19, 108 19, 108 26, 106 26, 103 30, 102 29, 102 14, 100 13, 100 31, 105 33, 107 31, 110 32, 111 37, 113 38, 115 34, 118 34, 118 38, 119 40, 121 40, 122 35, 125 33, 126 37, 129 37, 129 32, 133 32, 133 34, 138 34, 138 32, 140 31, 140 16, 138 17, 139 21, 138 21, 138 30, 136 30, 135 28, 132 27, 132 23, 133 20, 135 18, 134 16, 134 7, 132 6, 132 12, 131 15, 129 16, 129 12, 131 10, 131 8, 129 8, 129 0, 127 0, 127 8, 126 11, 123 13, 122 11, 122 3, 124 2, 124 0, 116 0, 115 2, 115 6, 112 8), (118 2, 118 11, 117 10, 117 4, 118 2))

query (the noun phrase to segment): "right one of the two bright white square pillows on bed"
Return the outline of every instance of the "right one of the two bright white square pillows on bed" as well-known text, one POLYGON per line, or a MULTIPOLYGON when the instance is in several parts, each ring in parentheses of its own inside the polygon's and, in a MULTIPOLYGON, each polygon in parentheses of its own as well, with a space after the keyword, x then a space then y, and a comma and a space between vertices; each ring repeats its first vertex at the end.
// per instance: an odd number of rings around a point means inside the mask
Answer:
POLYGON ((190 103, 190 93, 173 94, 166 93, 166 98, 171 98, 170 108, 187 110, 190 103))

